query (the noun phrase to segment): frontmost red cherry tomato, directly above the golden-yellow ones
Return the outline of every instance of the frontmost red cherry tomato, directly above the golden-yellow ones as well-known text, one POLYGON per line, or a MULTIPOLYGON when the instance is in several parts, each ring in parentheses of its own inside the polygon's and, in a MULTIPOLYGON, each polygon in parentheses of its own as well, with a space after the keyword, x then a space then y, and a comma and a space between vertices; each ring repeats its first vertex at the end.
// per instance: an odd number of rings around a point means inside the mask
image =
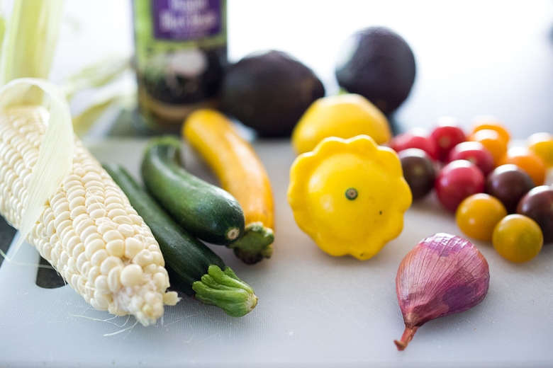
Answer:
POLYGON ((438 173, 434 188, 445 209, 455 212, 469 195, 484 191, 484 174, 478 166, 467 160, 447 163, 438 173))

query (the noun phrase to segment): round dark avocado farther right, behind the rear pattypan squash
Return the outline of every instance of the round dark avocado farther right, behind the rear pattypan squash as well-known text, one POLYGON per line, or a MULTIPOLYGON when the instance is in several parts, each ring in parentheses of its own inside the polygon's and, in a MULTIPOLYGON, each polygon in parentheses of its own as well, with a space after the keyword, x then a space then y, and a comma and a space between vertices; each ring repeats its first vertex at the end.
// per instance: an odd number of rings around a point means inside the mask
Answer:
POLYGON ((415 81, 415 55, 393 30, 358 30, 342 45, 335 75, 338 85, 370 100, 391 115, 407 99, 415 81))

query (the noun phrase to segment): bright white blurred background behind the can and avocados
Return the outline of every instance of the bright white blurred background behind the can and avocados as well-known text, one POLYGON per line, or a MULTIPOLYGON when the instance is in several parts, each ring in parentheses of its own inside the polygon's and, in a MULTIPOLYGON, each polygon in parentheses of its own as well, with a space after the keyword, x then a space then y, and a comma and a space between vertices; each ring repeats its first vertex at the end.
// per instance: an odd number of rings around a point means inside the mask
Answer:
MULTIPOLYGON (((553 132, 553 1, 228 0, 228 57, 257 50, 289 52, 337 93, 334 69, 342 42, 384 25, 410 45, 417 66, 410 96, 396 111, 401 130, 456 117, 496 115, 515 139, 553 132)), ((130 0, 66 0, 51 78, 62 81, 105 57, 133 54, 130 0)), ((130 91, 133 76, 119 88, 130 91)), ((86 104, 83 93, 80 103, 86 104)), ((74 102, 79 108, 79 99, 74 102)), ((113 130, 115 110, 91 135, 113 130)), ((118 124, 122 124, 118 122, 118 124)))

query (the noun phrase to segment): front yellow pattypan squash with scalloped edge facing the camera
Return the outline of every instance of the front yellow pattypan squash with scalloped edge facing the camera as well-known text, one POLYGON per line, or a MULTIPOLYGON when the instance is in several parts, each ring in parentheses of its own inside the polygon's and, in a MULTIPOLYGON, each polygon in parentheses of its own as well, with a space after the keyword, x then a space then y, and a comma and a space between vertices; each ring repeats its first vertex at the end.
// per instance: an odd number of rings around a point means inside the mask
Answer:
POLYGON ((290 168, 296 224, 330 255, 372 258, 401 234, 412 199, 396 152, 367 135, 325 138, 290 168))

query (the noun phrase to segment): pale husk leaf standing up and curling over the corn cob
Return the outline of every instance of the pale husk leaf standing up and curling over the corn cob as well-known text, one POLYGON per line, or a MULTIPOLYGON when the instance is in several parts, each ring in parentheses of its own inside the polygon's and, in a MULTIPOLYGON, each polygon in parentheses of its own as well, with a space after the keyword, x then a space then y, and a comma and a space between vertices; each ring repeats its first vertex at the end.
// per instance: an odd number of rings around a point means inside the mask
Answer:
POLYGON ((7 27, 4 19, 0 27, 0 108, 43 105, 44 112, 49 112, 23 203, 16 249, 30 234, 72 164, 74 135, 69 105, 60 89, 47 80, 63 5, 63 0, 14 0, 7 27))

